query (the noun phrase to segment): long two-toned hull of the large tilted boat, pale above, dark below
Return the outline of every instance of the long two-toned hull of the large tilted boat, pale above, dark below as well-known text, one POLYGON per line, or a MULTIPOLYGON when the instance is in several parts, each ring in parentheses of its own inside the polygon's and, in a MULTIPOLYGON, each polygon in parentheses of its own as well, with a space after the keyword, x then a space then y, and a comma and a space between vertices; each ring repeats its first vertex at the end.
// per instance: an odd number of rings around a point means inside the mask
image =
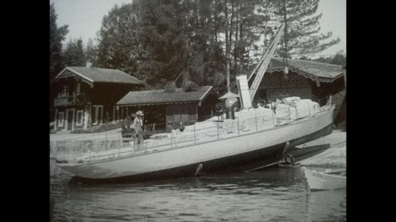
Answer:
POLYGON ((216 141, 97 162, 57 165, 79 178, 119 182, 195 176, 199 166, 203 172, 223 171, 279 159, 287 142, 293 147, 331 134, 333 111, 334 106, 287 125, 216 141))

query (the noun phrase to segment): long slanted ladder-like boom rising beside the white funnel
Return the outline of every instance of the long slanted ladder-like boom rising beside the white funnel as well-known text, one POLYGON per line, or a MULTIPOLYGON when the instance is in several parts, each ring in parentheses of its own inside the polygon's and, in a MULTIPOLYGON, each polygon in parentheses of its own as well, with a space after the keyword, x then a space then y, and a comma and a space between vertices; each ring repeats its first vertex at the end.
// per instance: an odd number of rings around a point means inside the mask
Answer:
POLYGON ((265 71, 267 70, 268 64, 271 61, 271 57, 275 52, 276 46, 279 43, 279 40, 281 39, 282 32, 285 28, 285 23, 282 23, 281 28, 279 28, 278 33, 275 36, 274 41, 271 42, 271 45, 267 48, 265 51, 264 55, 260 58, 257 66, 254 68, 253 72, 250 74, 249 79, 254 75, 256 72, 257 68, 257 74, 253 79, 253 82, 251 83, 249 94, 250 94, 250 100, 253 101, 254 96, 257 92, 258 86, 260 85, 261 80, 264 77, 265 71))

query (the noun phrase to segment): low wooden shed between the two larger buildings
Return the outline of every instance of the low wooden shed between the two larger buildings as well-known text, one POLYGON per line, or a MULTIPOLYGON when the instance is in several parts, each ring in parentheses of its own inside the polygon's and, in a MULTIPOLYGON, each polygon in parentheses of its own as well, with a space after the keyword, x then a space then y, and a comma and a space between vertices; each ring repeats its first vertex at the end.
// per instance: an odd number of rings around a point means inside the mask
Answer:
POLYGON ((200 86, 198 90, 174 92, 164 89, 131 91, 114 106, 114 119, 124 119, 138 110, 145 112, 145 124, 155 130, 178 128, 179 123, 191 125, 213 116, 219 94, 213 86, 200 86))

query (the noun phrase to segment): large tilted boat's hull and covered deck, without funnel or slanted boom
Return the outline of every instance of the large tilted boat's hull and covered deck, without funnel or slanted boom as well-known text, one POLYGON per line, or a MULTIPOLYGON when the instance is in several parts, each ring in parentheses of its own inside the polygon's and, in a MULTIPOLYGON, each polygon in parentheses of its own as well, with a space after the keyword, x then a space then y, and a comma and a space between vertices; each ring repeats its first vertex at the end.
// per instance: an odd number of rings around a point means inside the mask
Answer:
POLYGON ((167 138, 146 140, 139 150, 134 146, 89 150, 82 156, 57 158, 56 164, 86 179, 139 181, 195 176, 198 168, 209 173, 266 159, 280 160, 288 154, 287 147, 329 135, 333 129, 334 105, 330 104, 290 122, 283 122, 284 118, 272 111, 262 115, 256 111, 236 112, 236 119, 196 123, 186 126, 183 132, 172 130, 167 138), (260 121, 268 113, 273 117, 260 121))

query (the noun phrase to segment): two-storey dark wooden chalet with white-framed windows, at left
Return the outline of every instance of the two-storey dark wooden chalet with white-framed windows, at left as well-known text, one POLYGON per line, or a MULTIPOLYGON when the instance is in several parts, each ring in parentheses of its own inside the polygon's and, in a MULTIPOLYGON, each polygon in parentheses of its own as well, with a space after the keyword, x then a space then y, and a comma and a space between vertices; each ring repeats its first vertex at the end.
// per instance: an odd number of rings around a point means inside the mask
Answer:
POLYGON ((117 101, 141 86, 141 80, 120 70, 92 68, 92 63, 66 67, 50 83, 54 129, 88 129, 111 121, 117 101))

